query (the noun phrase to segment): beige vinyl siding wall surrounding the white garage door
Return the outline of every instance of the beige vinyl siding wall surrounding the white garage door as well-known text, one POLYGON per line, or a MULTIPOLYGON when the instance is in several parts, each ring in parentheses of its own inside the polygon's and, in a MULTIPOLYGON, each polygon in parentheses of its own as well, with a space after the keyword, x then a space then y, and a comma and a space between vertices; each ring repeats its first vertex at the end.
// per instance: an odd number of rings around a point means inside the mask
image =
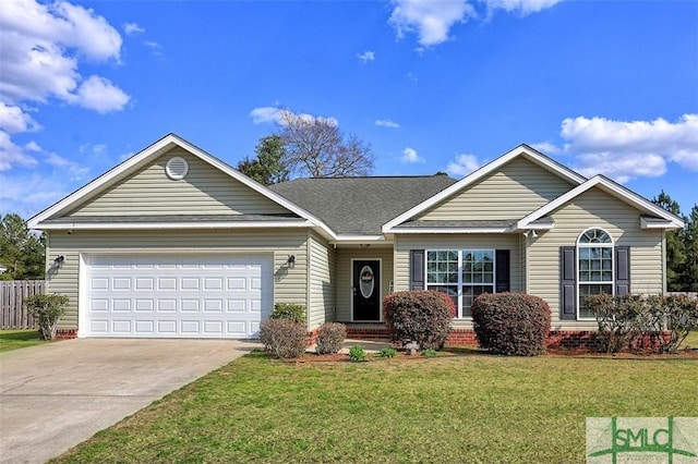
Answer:
MULTIPOLYGON (((248 231, 63 231, 49 232, 47 262, 62 255, 63 267, 47 274, 47 291, 70 297, 62 328, 77 327, 80 254, 273 254, 274 302, 308 304, 308 233, 305 230, 248 231), (296 266, 286 264, 296 255, 296 266)), ((270 308, 268 308, 270 310, 270 308)))

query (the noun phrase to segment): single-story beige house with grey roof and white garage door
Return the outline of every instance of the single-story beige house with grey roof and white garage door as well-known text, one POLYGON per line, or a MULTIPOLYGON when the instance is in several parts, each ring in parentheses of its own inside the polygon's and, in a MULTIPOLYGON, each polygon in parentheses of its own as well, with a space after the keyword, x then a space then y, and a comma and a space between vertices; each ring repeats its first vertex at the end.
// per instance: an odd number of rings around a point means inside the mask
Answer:
MULTIPOLYGON (((521 145, 447 175, 261 185, 170 134, 28 221, 47 232, 47 289, 70 297, 59 334, 250 338, 276 303, 308 329, 384 335, 383 297, 446 292, 454 340, 483 292, 526 292, 554 331, 595 329, 583 296, 663 293, 676 216, 521 145)), ((460 334, 460 335, 459 335, 460 334)))

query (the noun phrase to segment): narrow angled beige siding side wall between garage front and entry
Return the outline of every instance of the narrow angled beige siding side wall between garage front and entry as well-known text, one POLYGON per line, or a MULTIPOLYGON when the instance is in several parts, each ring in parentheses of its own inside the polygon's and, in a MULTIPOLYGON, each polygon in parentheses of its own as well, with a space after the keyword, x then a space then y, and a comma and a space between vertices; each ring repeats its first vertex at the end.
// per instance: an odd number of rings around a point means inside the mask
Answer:
POLYGON ((313 330, 335 315, 336 252, 315 233, 309 240, 309 304, 308 323, 313 330))

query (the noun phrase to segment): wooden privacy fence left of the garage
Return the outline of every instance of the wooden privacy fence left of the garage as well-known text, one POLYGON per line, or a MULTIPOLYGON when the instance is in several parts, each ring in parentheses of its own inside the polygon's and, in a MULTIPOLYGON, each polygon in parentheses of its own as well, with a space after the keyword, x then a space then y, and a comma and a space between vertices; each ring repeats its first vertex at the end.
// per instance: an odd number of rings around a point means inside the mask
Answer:
POLYGON ((8 329, 36 329, 34 318, 29 316, 24 300, 44 293, 43 280, 0 281, 0 327, 8 329))

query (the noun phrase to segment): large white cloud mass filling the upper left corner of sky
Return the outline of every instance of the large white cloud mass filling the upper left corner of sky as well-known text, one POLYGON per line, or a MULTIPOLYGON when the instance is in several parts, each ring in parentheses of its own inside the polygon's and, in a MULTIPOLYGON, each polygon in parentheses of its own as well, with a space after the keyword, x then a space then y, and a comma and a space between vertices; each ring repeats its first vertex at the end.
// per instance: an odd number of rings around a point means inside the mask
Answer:
POLYGON ((0 14, 0 166, 34 166, 27 151, 38 145, 17 146, 9 136, 41 125, 27 102, 51 99, 99 113, 121 110, 131 97, 109 80, 79 72, 83 61, 120 63, 121 36, 94 10, 58 0, 13 0, 0 14))

